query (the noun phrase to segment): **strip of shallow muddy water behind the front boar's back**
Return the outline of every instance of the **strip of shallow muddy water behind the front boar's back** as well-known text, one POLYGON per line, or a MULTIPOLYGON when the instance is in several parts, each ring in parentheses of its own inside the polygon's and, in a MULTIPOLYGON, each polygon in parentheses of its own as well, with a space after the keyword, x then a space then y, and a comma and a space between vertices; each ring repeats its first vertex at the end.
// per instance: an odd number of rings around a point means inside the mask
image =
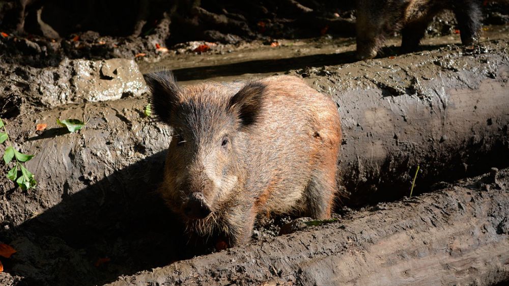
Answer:
MULTIPOLYGON (((505 39, 507 26, 485 26, 480 41, 505 39)), ((397 56, 400 37, 388 38, 380 57, 397 56)), ((204 54, 182 52, 166 56, 161 61, 144 59, 138 62, 142 73, 161 69, 173 70, 182 84, 202 80, 231 81, 250 77, 264 77, 274 73, 306 67, 335 66, 355 62, 355 38, 325 36, 304 40, 278 40, 270 43, 255 41, 240 46, 226 45, 204 54)), ((436 49, 449 44, 460 44, 460 35, 427 37, 422 40, 420 51, 436 49)))

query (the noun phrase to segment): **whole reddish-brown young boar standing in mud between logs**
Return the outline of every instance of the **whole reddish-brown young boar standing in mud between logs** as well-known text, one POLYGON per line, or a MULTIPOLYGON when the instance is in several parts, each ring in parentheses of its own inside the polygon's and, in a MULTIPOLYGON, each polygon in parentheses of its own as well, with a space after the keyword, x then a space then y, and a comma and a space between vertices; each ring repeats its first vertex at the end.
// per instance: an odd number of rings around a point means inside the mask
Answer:
POLYGON ((202 237, 248 242, 257 214, 330 217, 341 126, 336 104, 294 76, 179 87, 149 74, 156 117, 177 135, 159 192, 202 237))

